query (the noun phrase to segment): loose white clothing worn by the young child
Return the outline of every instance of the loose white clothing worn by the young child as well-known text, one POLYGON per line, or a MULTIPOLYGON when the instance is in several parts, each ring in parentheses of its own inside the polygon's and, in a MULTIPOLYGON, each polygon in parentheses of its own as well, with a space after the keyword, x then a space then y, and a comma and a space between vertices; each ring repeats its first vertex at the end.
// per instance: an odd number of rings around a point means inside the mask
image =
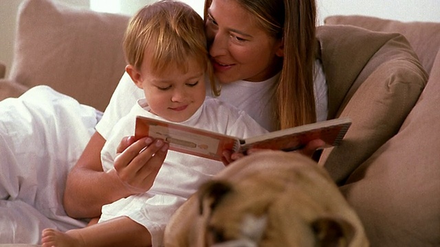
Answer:
MULTIPOLYGON (((105 172, 113 168, 116 147, 122 137, 134 134, 135 116, 142 115, 165 120, 149 113, 148 110, 145 99, 140 99, 129 114, 122 117, 115 125, 101 151, 102 167, 105 172)), ((240 138, 253 137, 267 132, 244 110, 210 97, 206 98, 203 105, 190 119, 180 124, 240 138)), ((223 163, 219 161, 169 150, 153 187, 146 193, 104 205, 100 222, 120 216, 130 217, 131 220, 148 229, 153 246, 162 246, 165 226, 173 212, 192 193, 195 193, 201 183, 212 178, 223 168, 223 163)))

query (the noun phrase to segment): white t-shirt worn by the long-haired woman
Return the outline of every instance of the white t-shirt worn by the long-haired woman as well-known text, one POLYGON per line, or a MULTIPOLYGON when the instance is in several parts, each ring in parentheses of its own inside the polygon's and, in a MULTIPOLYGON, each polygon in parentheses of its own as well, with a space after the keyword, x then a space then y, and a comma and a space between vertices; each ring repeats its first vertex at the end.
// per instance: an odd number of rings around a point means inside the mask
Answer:
MULTIPOLYGON (((279 74, 264 82, 240 80, 229 84, 222 84, 219 99, 236 108, 245 110, 248 115, 265 129, 274 131, 276 127, 274 126, 275 111, 272 97, 274 97, 274 84, 278 78, 279 74)), ((210 86, 208 85, 206 88, 207 95, 210 95, 210 86)), ((314 90, 317 120, 326 120, 328 113, 327 82, 319 60, 315 62, 314 90)), ((144 92, 135 86, 127 73, 124 73, 111 97, 109 106, 107 106, 102 119, 96 125, 96 130, 104 139, 108 139, 109 133, 116 122, 129 113, 137 99, 142 98, 144 98, 144 92)))

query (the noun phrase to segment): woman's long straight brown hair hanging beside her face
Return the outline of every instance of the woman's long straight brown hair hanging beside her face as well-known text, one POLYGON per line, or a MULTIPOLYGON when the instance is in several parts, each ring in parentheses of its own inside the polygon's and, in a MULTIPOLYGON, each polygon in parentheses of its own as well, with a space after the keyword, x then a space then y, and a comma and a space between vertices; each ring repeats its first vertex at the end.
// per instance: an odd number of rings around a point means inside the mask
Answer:
MULTIPOLYGON (((274 38, 284 42, 283 67, 276 88, 276 115, 281 129, 316 121, 314 0, 235 0, 274 38)), ((212 0, 205 1, 205 19, 212 0)))

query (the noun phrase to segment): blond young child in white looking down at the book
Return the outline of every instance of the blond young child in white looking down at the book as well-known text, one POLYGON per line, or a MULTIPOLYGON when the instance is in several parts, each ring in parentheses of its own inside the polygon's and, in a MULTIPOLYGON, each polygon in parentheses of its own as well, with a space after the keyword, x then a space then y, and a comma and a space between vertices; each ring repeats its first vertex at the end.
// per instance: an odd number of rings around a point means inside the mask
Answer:
MULTIPOLYGON (((126 72, 145 98, 120 119, 102 148, 104 172, 114 169, 116 148, 133 135, 137 115, 242 138, 267 132, 243 110, 206 97, 206 78, 213 94, 219 91, 203 20, 188 5, 171 0, 142 8, 129 23, 124 51, 126 72)), ((170 216, 223 168, 218 161, 168 151, 150 190, 104 205, 98 224, 66 233, 45 229, 42 246, 162 246, 170 216)))

